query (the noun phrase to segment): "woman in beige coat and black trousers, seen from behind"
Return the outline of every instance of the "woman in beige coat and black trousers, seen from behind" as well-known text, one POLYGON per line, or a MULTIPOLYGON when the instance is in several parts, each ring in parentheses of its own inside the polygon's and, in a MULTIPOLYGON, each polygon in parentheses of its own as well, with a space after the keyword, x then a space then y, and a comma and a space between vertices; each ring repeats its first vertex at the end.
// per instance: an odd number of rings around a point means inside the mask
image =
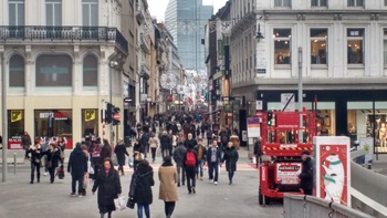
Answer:
POLYGON ((164 163, 158 169, 158 178, 160 180, 158 198, 164 200, 165 215, 167 218, 170 218, 174 214, 178 195, 176 188, 177 172, 169 155, 164 157, 164 163))

